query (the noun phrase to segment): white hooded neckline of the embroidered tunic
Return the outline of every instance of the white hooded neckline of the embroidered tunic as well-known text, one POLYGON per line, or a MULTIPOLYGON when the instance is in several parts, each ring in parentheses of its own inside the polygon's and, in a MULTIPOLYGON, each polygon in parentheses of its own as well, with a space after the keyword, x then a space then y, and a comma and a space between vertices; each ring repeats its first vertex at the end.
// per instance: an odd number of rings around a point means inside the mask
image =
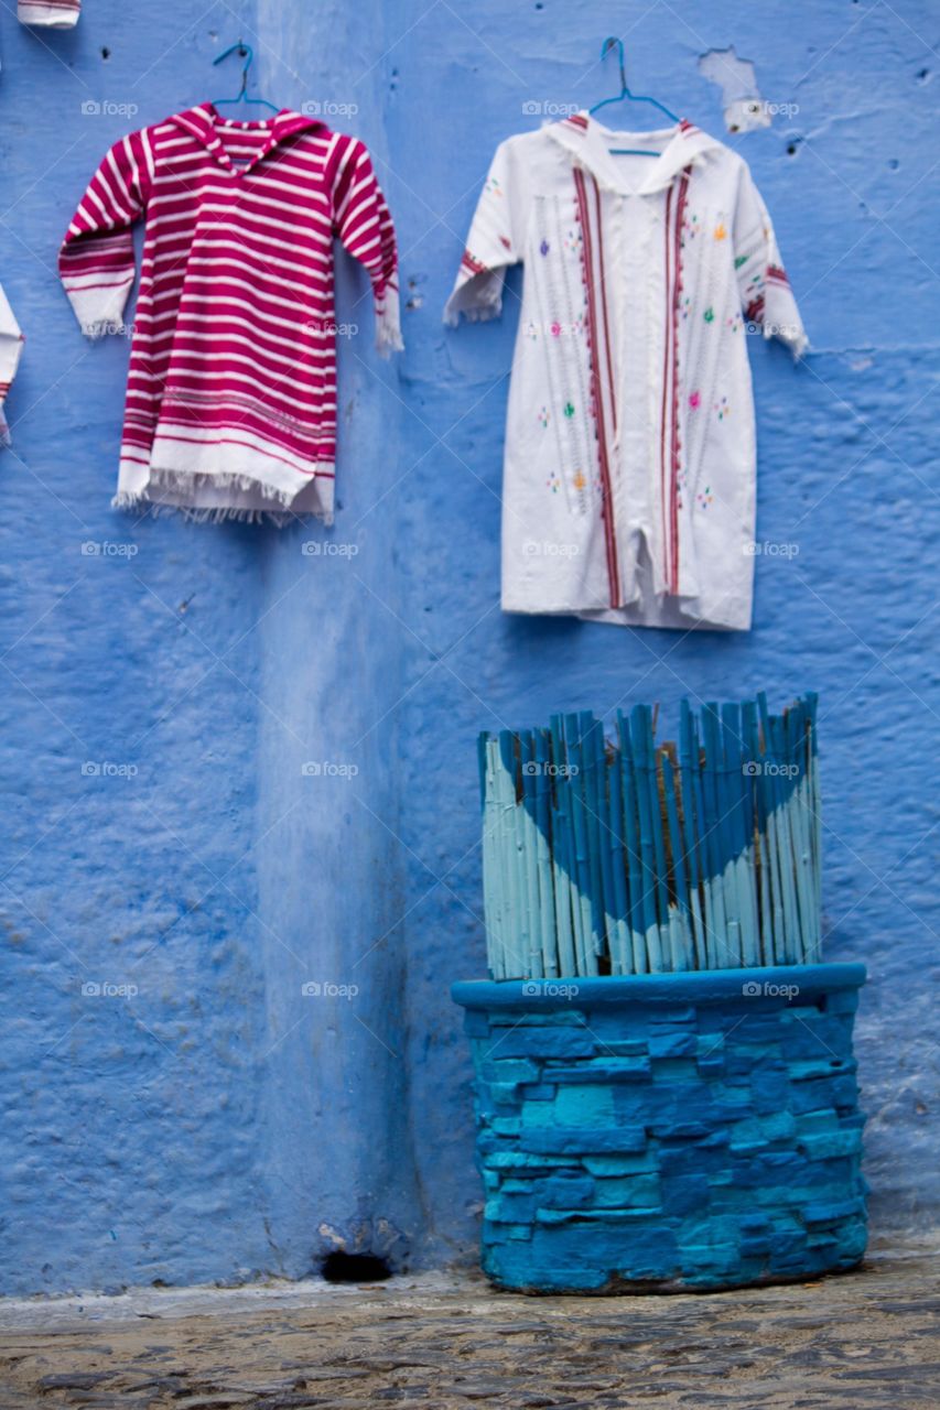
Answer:
POLYGON ((553 141, 569 151, 574 159, 587 166, 601 186, 621 196, 652 196, 672 185, 675 176, 686 166, 700 166, 704 154, 720 149, 717 138, 703 133, 685 117, 675 127, 659 131, 618 131, 604 127, 590 113, 573 113, 560 123, 550 123, 545 131, 553 141), (661 154, 651 161, 649 171, 638 188, 628 186, 622 172, 617 169, 617 158, 608 151, 608 142, 627 145, 649 140, 663 142, 661 154))

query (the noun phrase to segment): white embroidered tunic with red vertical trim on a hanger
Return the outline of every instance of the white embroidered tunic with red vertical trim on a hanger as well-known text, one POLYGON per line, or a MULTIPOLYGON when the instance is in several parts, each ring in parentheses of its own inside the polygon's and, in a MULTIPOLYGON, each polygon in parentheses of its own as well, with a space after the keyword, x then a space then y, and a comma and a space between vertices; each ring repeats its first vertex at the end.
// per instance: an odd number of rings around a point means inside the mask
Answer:
POLYGON ((747 630, 747 333, 806 334, 747 164, 690 123, 579 113, 502 142, 445 319, 525 265, 502 486, 502 608, 747 630), (615 155, 618 148, 658 155, 615 155))

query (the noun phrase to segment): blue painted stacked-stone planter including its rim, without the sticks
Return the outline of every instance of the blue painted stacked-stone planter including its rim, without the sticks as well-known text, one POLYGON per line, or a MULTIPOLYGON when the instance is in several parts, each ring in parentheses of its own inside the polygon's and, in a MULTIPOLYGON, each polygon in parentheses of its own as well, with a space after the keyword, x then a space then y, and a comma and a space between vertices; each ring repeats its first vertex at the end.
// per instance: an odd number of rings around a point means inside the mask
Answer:
POLYGON ((862 964, 453 986, 477 1074, 483 1268, 670 1292, 865 1251, 862 964))

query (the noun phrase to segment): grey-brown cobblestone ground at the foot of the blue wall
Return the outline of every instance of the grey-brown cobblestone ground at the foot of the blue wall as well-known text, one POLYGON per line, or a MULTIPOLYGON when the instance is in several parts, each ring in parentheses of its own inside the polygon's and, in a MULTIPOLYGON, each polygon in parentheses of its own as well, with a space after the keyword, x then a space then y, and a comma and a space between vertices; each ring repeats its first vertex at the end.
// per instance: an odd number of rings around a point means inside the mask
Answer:
POLYGON ((0 1304, 1 1410, 940 1406, 923 1253, 706 1296, 519 1297, 397 1279, 0 1304))

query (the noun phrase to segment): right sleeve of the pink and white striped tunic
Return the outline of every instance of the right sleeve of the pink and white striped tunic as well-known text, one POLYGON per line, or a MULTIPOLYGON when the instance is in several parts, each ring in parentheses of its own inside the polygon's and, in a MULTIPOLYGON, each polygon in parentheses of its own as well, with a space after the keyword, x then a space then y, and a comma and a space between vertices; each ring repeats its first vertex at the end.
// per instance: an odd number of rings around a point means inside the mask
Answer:
POLYGON ((398 251, 385 197, 363 142, 351 140, 333 186, 333 231, 373 281, 375 347, 382 357, 401 352, 398 251))

